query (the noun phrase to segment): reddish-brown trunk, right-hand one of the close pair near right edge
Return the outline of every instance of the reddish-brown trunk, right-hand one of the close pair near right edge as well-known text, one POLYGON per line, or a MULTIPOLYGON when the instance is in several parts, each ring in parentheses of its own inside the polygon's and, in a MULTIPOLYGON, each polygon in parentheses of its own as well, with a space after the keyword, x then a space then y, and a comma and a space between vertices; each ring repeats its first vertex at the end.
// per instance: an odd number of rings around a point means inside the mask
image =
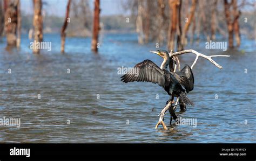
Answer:
POLYGON ((233 21, 233 30, 235 34, 235 40, 237 41, 237 47, 241 44, 241 38, 240 38, 240 27, 239 27, 239 17, 241 15, 241 12, 237 9, 237 0, 232 1, 233 10, 234 10, 234 21, 233 21))

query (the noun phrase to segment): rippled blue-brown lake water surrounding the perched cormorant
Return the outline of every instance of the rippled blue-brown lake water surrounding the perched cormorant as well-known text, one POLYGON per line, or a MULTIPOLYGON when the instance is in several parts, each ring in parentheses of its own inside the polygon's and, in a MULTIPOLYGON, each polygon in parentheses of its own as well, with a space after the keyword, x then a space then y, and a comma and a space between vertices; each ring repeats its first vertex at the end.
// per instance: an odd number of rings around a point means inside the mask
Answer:
MULTIPOLYGON (((105 34, 98 54, 90 51, 90 38, 67 38, 60 54, 59 36, 45 34, 52 51, 35 55, 30 41, 23 35, 19 51, 6 51, 5 39, 0 43, 0 118, 21 118, 20 128, 0 126, 1 143, 256 143, 254 40, 243 39, 239 50, 226 52, 206 50, 204 43, 186 47, 231 57, 214 58, 221 70, 199 58, 188 94, 196 105, 185 113, 177 109, 178 117, 197 118, 197 127, 173 130, 154 129, 169 99, 164 89, 123 83, 117 74, 118 67, 145 59, 160 66, 161 58, 149 52, 155 44, 138 45, 136 34, 105 34)), ((191 65, 194 54, 180 60, 181 67, 191 65)), ((167 112, 171 128, 169 120, 167 112)))

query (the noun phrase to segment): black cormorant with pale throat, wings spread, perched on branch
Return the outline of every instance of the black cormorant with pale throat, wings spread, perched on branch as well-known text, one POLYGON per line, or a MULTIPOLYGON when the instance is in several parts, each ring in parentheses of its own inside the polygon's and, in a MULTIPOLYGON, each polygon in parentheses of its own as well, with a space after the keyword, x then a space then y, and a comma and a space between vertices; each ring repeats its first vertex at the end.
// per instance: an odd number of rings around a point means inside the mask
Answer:
MULTIPOLYGON (((163 87, 170 95, 170 99, 167 103, 174 103, 173 99, 174 96, 176 96, 178 97, 177 101, 180 99, 181 102, 194 106, 193 102, 186 96, 186 93, 193 90, 194 87, 194 77, 190 66, 185 65, 185 67, 177 73, 169 72, 167 66, 170 61, 173 61, 170 59, 169 53, 165 50, 150 52, 155 53, 164 59, 160 68, 151 60, 144 60, 134 66, 133 72, 124 74, 121 77, 121 81, 125 83, 133 81, 158 83, 158 85, 163 87)), ((163 124, 163 127, 167 129, 163 120, 159 119, 158 124, 163 124)))

